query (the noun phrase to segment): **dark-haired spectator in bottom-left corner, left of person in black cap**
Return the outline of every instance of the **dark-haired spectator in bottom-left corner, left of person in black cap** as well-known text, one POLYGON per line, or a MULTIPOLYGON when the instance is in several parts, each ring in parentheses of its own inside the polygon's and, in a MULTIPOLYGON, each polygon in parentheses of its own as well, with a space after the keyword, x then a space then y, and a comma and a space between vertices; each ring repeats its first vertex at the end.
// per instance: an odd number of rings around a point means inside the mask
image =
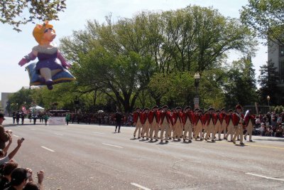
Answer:
POLYGON ((5 189, 10 186, 11 173, 18 167, 16 162, 8 162, 4 165, 3 176, 0 179, 0 189, 5 189))

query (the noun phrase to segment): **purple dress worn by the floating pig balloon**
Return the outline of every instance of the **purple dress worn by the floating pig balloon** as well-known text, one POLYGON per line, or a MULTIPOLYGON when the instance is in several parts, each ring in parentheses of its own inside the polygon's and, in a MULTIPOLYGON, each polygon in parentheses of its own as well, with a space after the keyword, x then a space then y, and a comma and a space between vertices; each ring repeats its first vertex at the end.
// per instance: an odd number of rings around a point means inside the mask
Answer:
POLYGON ((41 46, 35 46, 33 51, 38 51, 38 63, 36 63, 35 66, 35 70, 38 74, 40 73, 40 68, 64 70, 61 61, 58 59, 58 48, 43 48, 41 46))

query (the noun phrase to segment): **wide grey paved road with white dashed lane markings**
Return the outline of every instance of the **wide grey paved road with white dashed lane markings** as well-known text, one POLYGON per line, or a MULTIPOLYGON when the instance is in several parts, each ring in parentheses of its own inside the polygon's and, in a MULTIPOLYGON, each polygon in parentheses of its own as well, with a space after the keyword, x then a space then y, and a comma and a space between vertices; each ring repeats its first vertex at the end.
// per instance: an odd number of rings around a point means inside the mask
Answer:
POLYGON ((253 137, 240 147, 226 141, 151 143, 132 139, 133 127, 121 133, 75 124, 6 129, 25 137, 15 159, 33 171, 44 169, 45 189, 284 189, 281 138, 253 137))

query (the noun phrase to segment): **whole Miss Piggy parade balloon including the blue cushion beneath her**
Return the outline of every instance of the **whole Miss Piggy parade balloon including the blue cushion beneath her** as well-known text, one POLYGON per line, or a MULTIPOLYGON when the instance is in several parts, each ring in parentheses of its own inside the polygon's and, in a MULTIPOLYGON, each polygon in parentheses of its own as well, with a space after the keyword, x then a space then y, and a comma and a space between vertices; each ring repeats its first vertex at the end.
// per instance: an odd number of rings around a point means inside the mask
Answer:
POLYGON ((65 83, 75 80, 67 70, 71 65, 67 63, 57 47, 53 46, 55 29, 48 21, 43 25, 37 24, 33 29, 33 37, 38 46, 33 47, 31 53, 24 56, 18 65, 25 65, 38 58, 37 63, 31 63, 26 67, 30 77, 30 85, 46 85, 49 90, 57 83, 65 83))

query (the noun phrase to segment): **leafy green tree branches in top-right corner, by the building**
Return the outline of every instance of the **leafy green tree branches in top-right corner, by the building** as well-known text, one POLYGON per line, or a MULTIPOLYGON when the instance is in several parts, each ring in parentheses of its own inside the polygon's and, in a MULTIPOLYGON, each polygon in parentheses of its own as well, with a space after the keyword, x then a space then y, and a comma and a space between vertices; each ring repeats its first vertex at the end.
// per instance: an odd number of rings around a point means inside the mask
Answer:
POLYGON ((241 21, 260 38, 284 46, 284 1, 249 0, 241 10, 241 21))

